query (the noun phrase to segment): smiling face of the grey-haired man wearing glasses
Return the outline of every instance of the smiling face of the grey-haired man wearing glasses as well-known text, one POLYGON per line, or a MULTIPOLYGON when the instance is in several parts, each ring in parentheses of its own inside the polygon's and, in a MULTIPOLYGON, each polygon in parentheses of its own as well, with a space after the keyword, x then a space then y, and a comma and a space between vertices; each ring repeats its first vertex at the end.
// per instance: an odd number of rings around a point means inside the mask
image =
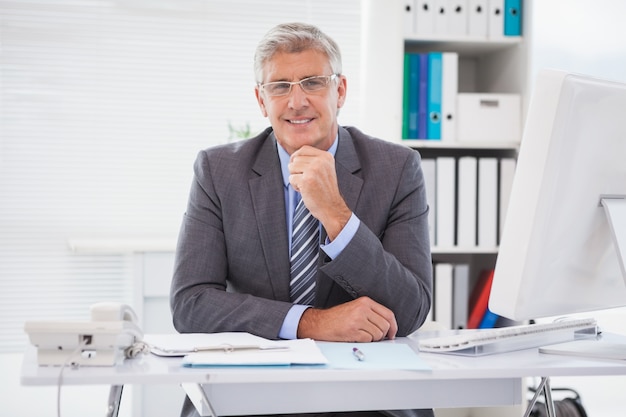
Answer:
MULTIPOLYGON (((265 64, 262 83, 300 81, 331 75, 328 58, 321 52, 279 52, 265 64)), ((331 80, 326 88, 306 93, 299 85, 289 94, 271 97, 257 86, 255 94, 264 116, 268 117, 278 143, 292 154, 303 145, 328 150, 337 136, 337 111, 345 101, 346 79, 331 80)))

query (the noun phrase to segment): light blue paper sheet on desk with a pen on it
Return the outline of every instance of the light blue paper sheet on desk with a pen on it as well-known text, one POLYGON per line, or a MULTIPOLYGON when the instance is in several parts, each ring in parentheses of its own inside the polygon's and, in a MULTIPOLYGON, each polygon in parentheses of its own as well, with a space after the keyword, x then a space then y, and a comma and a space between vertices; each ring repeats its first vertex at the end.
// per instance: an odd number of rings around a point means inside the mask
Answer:
POLYGON ((342 343, 318 342, 322 353, 328 358, 328 366, 336 369, 398 369, 409 371, 430 371, 430 365, 420 358, 411 347, 404 343, 342 343), (357 360, 353 349, 363 354, 357 360))

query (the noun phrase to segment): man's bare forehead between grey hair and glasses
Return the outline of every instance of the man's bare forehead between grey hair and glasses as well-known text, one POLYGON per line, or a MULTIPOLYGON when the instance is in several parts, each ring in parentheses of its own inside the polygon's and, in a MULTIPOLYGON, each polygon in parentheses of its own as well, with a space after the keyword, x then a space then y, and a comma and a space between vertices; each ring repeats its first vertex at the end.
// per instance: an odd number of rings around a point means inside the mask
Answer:
POLYGON ((302 52, 277 52, 263 66, 264 82, 296 81, 314 75, 329 75, 326 54, 309 49, 302 52))

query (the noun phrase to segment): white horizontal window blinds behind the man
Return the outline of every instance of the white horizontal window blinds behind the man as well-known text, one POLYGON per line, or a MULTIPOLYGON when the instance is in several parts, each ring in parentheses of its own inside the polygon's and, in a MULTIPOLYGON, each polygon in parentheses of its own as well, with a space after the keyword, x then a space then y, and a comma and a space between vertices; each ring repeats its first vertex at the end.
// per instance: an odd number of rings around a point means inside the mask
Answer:
MULTIPOLYGON (((199 149, 229 123, 267 126, 252 56, 274 24, 307 21, 359 85, 360 1, 0 1, 0 351, 27 319, 86 319, 131 302, 129 254, 70 237, 175 236, 199 149)), ((354 124, 349 89, 340 123, 354 124)))

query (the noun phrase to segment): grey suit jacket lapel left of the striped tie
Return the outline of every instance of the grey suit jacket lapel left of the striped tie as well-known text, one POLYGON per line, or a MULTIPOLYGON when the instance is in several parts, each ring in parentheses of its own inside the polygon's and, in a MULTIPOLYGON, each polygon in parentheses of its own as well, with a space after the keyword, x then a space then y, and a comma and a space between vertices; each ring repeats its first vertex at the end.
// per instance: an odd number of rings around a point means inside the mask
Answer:
POLYGON ((276 300, 289 301, 289 248, 283 178, 273 134, 261 147, 250 179, 254 215, 261 237, 272 291, 276 300))

